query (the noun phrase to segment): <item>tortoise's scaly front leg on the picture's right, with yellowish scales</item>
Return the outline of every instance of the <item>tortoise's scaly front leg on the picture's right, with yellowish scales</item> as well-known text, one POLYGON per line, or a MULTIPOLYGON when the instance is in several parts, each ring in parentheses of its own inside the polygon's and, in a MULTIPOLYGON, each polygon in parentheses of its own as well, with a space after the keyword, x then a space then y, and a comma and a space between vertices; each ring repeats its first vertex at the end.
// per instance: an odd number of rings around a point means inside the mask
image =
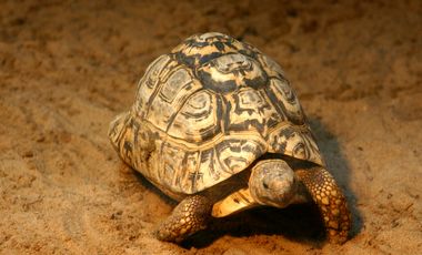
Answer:
POLYGON ((332 175, 321 166, 297 171, 297 176, 319 206, 330 243, 343 244, 351 228, 345 197, 332 175))

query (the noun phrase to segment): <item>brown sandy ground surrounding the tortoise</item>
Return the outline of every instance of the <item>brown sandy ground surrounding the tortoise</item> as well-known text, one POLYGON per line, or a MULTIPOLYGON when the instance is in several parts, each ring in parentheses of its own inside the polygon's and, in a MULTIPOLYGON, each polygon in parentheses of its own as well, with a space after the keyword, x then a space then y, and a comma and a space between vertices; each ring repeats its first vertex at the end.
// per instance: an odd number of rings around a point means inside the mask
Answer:
POLYGON ((422 2, 175 2, 0 1, 0 253, 420 253, 422 2), (311 205, 245 212, 181 246, 150 235, 174 203, 118 159, 108 123, 154 58, 205 31, 285 69, 350 201, 344 245, 311 205))

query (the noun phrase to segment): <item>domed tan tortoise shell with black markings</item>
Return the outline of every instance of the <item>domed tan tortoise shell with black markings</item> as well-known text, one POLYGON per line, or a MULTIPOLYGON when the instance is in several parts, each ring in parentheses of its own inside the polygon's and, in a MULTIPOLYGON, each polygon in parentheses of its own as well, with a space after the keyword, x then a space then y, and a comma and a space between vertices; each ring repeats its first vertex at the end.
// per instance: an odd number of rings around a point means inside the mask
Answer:
POLYGON ((171 194, 201 192, 265 153, 323 165, 280 65, 221 33, 192 35, 154 60, 118 119, 110 132, 128 136, 114 145, 123 160, 171 194))

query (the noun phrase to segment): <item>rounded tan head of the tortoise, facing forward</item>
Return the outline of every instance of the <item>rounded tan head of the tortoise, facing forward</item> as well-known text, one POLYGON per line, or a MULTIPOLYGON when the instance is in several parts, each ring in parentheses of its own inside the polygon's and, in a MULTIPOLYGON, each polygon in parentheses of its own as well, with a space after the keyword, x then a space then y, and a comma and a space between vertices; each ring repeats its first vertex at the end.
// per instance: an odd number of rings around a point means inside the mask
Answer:
POLYGON ((282 208, 297 198, 299 183, 283 160, 262 160, 252 167, 249 190, 259 204, 282 208))

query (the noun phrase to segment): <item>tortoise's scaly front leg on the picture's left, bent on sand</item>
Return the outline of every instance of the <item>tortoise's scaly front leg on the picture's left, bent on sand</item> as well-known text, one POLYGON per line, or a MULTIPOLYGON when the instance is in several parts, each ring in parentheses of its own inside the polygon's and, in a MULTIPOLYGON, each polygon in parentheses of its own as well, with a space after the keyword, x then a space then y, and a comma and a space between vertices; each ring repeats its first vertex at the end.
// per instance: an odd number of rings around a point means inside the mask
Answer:
POLYGON ((182 242, 207 227, 211 217, 211 208, 212 204, 209 198, 201 195, 188 196, 155 228, 153 235, 160 241, 182 242))

